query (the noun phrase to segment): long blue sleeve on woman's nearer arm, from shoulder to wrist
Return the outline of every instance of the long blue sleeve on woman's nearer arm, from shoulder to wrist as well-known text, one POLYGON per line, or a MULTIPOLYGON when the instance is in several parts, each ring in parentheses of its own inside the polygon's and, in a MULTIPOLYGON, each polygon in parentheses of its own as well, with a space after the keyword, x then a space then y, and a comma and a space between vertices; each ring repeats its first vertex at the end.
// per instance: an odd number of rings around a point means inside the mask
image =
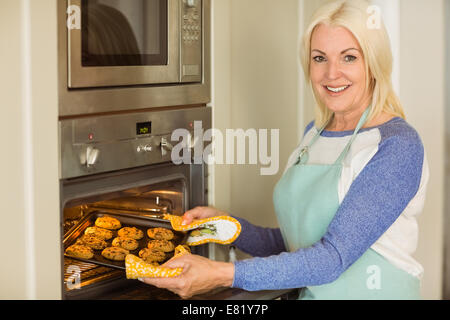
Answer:
POLYGON ((361 257, 400 216, 420 185, 421 140, 412 128, 396 130, 401 131, 380 130, 378 152, 352 183, 320 241, 291 253, 235 262, 233 287, 252 291, 322 285, 361 257))

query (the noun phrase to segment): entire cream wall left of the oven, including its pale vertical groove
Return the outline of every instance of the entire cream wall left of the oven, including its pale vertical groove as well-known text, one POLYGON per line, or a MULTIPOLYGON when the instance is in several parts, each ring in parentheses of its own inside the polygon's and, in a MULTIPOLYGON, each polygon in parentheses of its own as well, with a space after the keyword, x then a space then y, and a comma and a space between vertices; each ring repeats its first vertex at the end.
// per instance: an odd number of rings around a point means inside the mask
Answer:
POLYGON ((0 299, 55 299, 61 290, 56 0, 3 0, 0 35, 7 45, 0 60, 6 138, 0 299))

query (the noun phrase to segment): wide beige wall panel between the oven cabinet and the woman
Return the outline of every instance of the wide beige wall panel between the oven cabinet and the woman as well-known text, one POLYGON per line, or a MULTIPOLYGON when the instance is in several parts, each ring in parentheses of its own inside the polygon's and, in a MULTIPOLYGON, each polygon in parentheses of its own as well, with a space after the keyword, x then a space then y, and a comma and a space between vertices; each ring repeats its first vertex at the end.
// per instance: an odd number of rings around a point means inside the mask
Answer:
POLYGON ((280 129, 278 174, 233 166, 231 210, 273 226, 273 188, 298 143, 298 1, 235 0, 231 20, 231 127, 280 129))

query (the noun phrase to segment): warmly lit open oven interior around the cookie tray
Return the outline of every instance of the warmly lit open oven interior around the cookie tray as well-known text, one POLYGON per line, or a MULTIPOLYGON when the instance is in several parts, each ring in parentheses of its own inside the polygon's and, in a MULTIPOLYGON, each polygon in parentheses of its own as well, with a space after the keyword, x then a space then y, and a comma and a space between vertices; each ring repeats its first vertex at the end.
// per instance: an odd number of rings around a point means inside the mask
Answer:
MULTIPOLYGON (((63 208, 63 246, 68 234, 93 212, 161 219, 165 213, 182 215, 188 208, 186 181, 182 178, 131 187, 68 201, 63 208)), ((202 250, 192 248, 202 254, 202 250)), ((63 257, 65 299, 178 299, 163 289, 127 280, 125 271, 63 257)))

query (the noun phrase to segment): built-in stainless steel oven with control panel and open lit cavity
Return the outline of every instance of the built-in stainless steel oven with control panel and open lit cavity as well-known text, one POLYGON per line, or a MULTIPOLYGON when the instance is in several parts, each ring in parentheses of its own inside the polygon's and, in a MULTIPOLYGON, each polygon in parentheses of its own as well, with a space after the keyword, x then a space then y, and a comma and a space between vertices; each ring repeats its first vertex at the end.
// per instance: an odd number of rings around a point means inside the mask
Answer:
MULTIPOLYGON (((127 280, 123 269, 108 261, 65 256, 74 237, 101 215, 122 223, 170 228, 162 215, 182 215, 207 204, 207 169, 190 153, 200 139, 182 144, 184 163, 172 161, 180 141, 172 133, 194 135, 193 122, 211 127, 209 108, 82 117, 60 121, 61 284, 65 299, 177 299, 167 290, 127 280), (188 161, 192 159, 192 161, 188 161)), ((192 248, 207 256, 207 246, 192 248)))

